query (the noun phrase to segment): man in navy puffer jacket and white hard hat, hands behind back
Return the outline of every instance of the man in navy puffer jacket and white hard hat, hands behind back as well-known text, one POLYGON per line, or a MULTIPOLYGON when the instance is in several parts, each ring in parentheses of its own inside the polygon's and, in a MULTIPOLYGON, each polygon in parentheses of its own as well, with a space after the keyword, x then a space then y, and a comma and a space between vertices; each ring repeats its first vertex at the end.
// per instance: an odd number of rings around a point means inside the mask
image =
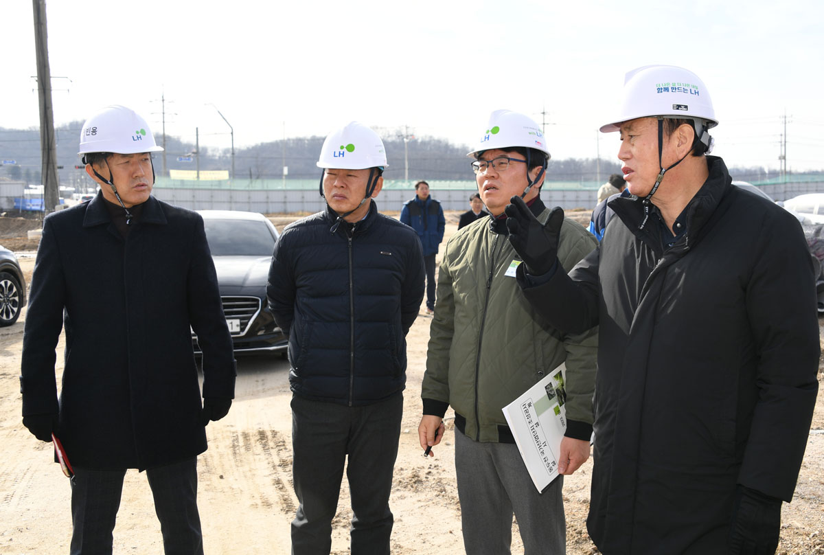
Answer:
POLYGON ((406 381, 406 333, 424 298, 417 233, 377 211, 386 151, 349 123, 326 137, 326 209, 283 229, 269 269, 269 306, 289 336, 292 553, 330 553, 344 467, 353 555, 390 549, 392 471, 406 381))

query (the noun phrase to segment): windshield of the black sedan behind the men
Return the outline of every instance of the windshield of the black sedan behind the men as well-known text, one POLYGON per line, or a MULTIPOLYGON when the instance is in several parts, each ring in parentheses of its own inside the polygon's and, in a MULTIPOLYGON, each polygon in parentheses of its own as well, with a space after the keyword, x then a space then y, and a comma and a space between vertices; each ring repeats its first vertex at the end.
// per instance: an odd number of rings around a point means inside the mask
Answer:
POLYGON ((265 222, 204 219, 212 256, 272 256, 274 236, 265 222))

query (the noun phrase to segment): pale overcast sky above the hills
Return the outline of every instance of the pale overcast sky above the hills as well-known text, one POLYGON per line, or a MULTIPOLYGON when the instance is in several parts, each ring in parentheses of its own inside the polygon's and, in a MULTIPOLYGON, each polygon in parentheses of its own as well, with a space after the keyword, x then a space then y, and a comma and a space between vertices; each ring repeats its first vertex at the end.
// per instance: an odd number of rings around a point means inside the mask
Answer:
MULTIPOLYGON (((47 1, 54 119, 124 104, 161 133, 229 148, 359 120, 469 144, 489 112, 545 118, 553 158, 614 159, 624 73, 705 82, 730 166, 824 168, 820 0, 47 1), (213 105, 213 106, 210 106, 213 105), (541 111, 545 110, 545 115, 541 111)), ((2 2, 0 126, 39 125, 32 2, 2 2)), ((0 153, 2 158, 2 153, 0 153)), ((389 161, 392 164, 392 161, 389 161)))

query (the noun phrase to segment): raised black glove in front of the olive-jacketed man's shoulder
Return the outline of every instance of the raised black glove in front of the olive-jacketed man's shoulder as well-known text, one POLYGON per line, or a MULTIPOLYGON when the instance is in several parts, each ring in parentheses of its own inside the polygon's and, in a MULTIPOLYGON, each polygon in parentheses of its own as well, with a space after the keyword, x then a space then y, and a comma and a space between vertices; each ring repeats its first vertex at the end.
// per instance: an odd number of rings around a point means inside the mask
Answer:
POLYGON ((564 210, 556 206, 544 225, 532 215, 520 196, 509 199, 507 214, 509 242, 521 256, 531 275, 544 275, 558 260, 558 236, 564 223, 564 210))

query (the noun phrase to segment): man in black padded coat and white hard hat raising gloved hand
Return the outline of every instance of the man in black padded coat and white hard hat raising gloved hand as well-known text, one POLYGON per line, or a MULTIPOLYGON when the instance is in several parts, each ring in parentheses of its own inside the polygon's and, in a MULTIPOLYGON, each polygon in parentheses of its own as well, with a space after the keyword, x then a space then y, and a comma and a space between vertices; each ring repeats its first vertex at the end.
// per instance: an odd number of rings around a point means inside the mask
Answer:
POLYGON ((513 199, 518 280, 559 330, 599 327, 588 530, 605 553, 774 553, 816 402, 815 276, 798 220, 731 184, 684 68, 627 74, 629 198, 569 275, 513 199), (523 267, 522 266, 522 267, 523 267), (700 387, 699 385, 700 384, 700 387))

